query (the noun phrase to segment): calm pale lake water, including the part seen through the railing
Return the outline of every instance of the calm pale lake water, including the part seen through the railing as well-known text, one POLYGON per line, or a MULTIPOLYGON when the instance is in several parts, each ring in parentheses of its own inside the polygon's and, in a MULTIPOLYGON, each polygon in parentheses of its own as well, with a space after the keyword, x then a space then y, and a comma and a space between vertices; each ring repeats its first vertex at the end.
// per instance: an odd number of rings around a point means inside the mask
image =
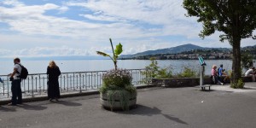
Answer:
MULTIPOLYGON (((75 75, 73 72, 90 72, 90 71, 106 71, 113 68, 113 61, 111 60, 80 60, 80 61, 55 61, 56 64, 60 67, 61 73, 63 74, 61 79, 59 79, 61 85, 61 90, 92 90, 97 89, 101 84, 100 79, 101 74, 98 73, 79 73, 75 75), (67 73, 69 75, 67 75, 67 73), (84 77, 84 76, 85 77, 84 77), (82 77, 81 77, 82 76, 82 77), (66 78, 65 78, 66 77, 66 78), (83 87, 83 88, 79 88, 83 87), (84 89, 85 88, 85 89, 84 89)), ((148 60, 119 60, 118 66, 120 68, 126 69, 143 69, 150 64, 151 61, 148 60)), ((0 74, 7 75, 12 72, 14 63, 12 61, 0 61, 0 74)), ((49 65, 49 61, 21 61, 21 63, 28 69, 30 74, 32 73, 46 73, 46 68, 49 65)), ((230 60, 207 60, 206 61, 206 75, 211 74, 212 65, 215 64, 219 67, 220 64, 224 65, 224 69, 229 71, 232 67, 232 61, 230 60)), ((158 61, 159 67, 170 67, 173 74, 181 73, 184 67, 189 67, 196 72, 199 72, 199 68, 201 67, 199 61, 197 60, 160 60, 158 61)), ((254 63, 255 66, 255 63, 254 63)), ((132 73, 133 75, 133 84, 136 84, 140 78, 136 73, 132 73), (137 81, 138 80, 138 81, 137 81)), ((34 75, 34 79, 26 79, 24 83, 21 85, 22 90, 35 90, 39 95, 41 93, 45 94, 45 90, 47 89, 47 79, 44 79, 45 75, 41 75, 38 78, 38 75, 34 75), (37 80, 38 79, 38 80, 37 80), (35 85, 35 86, 34 86, 35 85), (37 91, 39 90, 39 91, 37 91), (43 90, 43 91, 41 91, 43 90)), ((1 76, 0 76, 1 77, 1 76)), ((31 77, 31 76, 30 76, 31 77)), ((8 81, 8 77, 1 77, 8 81)), ((3 94, 10 93, 10 86, 8 83, 5 84, 0 83, 0 99, 3 94)), ((138 84, 138 83, 137 83, 138 84)), ((26 95, 30 96, 31 92, 26 91, 26 95)), ((5 97, 8 95, 5 95, 5 97)))

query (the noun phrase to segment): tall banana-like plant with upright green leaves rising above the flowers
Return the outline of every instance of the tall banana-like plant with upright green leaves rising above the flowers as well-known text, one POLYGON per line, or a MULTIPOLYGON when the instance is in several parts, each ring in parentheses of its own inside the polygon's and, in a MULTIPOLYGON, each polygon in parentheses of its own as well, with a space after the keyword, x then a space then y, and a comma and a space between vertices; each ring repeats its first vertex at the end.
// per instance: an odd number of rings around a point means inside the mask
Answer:
POLYGON ((108 55, 107 53, 104 53, 102 51, 96 51, 96 53, 98 55, 108 56, 113 61, 114 69, 117 70, 117 59, 119 55, 123 52, 123 45, 119 43, 115 46, 115 49, 113 49, 112 39, 109 38, 109 41, 112 47, 113 56, 108 55))

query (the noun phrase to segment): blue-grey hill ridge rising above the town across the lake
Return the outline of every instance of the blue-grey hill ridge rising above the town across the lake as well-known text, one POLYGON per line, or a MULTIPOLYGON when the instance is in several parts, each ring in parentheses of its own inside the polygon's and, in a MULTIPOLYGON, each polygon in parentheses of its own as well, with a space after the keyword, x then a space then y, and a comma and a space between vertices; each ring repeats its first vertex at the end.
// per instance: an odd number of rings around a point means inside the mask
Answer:
POLYGON ((190 51, 194 49, 220 49, 220 50, 230 50, 228 48, 204 48, 201 46, 197 46, 194 44, 183 44, 179 45, 177 47, 167 48, 167 49, 155 49, 155 50, 147 50, 141 53, 137 53, 134 55, 120 55, 119 58, 134 58, 137 56, 143 56, 143 55, 158 55, 158 54, 177 54, 184 51, 190 51))

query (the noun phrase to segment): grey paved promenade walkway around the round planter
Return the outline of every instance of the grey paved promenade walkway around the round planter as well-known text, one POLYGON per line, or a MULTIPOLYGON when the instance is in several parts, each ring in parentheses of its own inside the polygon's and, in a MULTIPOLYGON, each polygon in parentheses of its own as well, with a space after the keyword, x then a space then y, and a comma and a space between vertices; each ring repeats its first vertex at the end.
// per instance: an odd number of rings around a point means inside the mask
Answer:
POLYGON ((98 95, 63 98, 60 102, 25 102, 0 106, 0 127, 32 128, 254 128, 256 83, 234 90, 214 85, 138 90, 137 108, 109 112, 98 95))

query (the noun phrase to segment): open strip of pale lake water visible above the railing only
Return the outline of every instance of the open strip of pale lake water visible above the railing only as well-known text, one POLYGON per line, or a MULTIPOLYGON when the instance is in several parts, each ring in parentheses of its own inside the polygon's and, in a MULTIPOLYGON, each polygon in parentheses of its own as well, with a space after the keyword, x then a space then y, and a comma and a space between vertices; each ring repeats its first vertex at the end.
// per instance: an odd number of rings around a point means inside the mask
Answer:
MULTIPOLYGON (((79 60, 79 61, 55 61, 60 67, 62 73, 70 72, 88 72, 88 71, 105 71, 113 68, 111 60, 79 60)), ((0 74, 6 75, 12 72, 14 63, 10 61, 0 61, 0 74)), ((21 63, 28 69, 29 73, 46 73, 46 68, 49 61, 21 61, 21 63)), ((224 65, 226 71, 232 67, 230 60, 206 60, 206 74, 211 73, 212 65, 219 67, 224 65)), ((119 60, 118 66, 126 69, 141 69, 150 64, 148 60, 119 60)), ((197 60, 159 60, 159 67, 171 67, 172 73, 179 73, 183 67, 189 67, 194 70, 199 70, 200 64, 197 60)), ((255 63, 254 63, 255 66, 255 63)))

